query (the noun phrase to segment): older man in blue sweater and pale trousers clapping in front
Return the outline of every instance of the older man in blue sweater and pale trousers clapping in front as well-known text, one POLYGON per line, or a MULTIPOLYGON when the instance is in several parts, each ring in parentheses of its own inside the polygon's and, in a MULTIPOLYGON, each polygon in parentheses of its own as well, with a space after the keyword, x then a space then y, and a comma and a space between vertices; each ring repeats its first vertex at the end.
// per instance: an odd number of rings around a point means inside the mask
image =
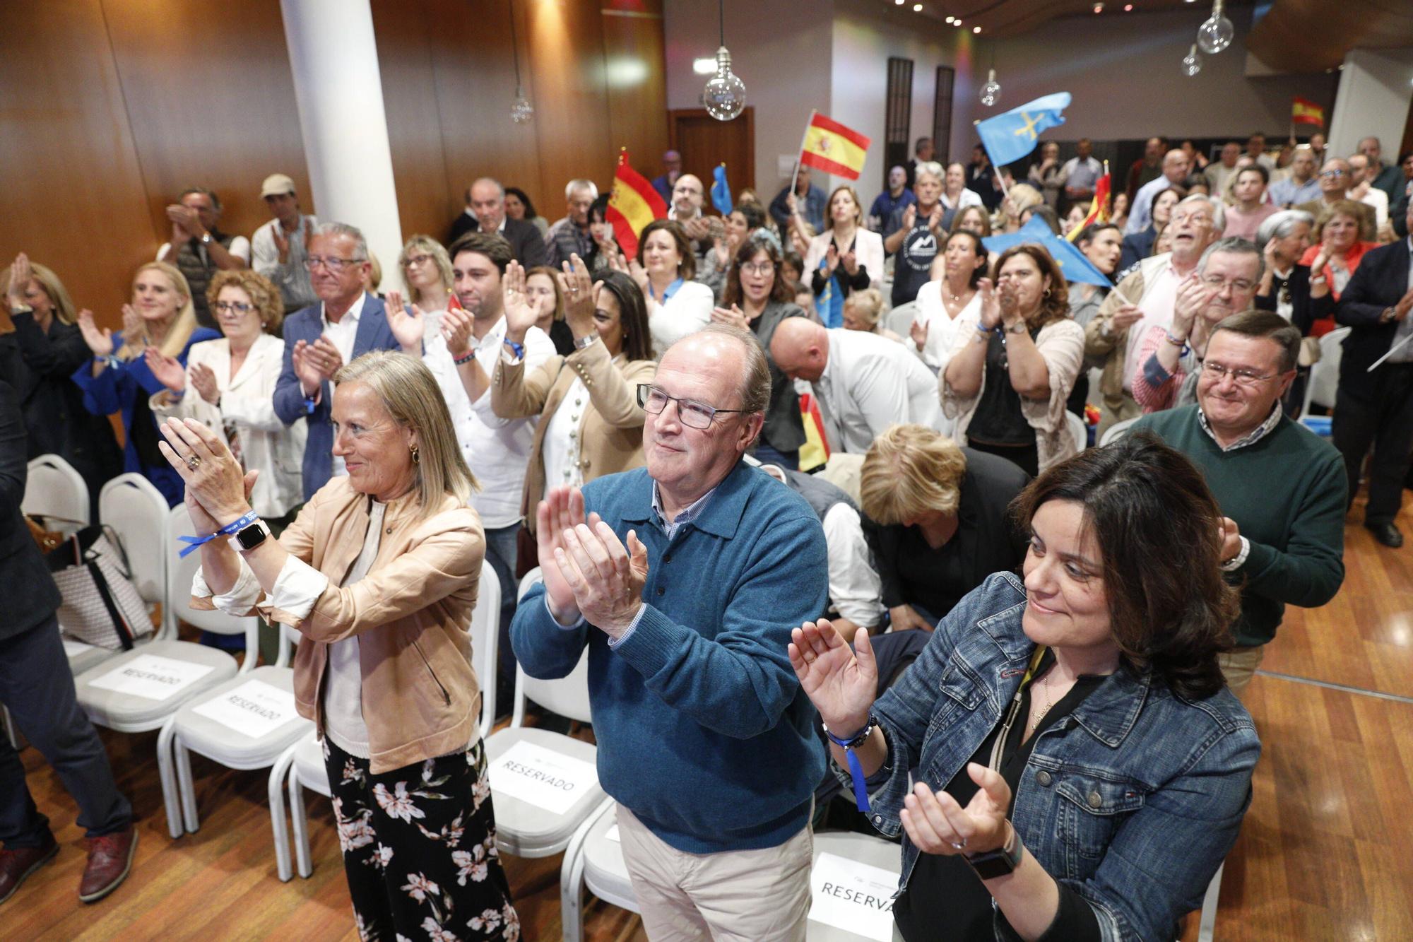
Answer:
POLYGON ((828 604, 810 505, 740 458, 770 373, 711 325, 663 355, 647 468, 555 488, 537 511, 544 584, 516 611, 526 672, 589 648, 603 788, 653 939, 804 939, 818 721, 786 655, 828 604))

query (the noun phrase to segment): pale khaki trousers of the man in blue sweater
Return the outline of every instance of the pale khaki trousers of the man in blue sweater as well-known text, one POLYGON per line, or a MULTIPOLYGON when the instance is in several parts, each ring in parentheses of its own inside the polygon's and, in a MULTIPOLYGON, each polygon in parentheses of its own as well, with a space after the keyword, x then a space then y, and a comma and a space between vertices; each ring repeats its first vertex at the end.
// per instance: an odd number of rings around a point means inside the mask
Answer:
POLYGON ((804 942, 814 835, 779 847, 690 854, 617 806, 623 861, 651 942, 804 942))

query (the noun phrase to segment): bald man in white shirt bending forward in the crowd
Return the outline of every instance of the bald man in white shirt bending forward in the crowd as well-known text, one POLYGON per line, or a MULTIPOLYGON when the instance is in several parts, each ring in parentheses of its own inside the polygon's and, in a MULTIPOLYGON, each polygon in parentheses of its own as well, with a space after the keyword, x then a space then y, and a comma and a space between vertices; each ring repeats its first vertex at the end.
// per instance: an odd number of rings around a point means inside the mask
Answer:
POLYGON ((820 402, 829 448, 863 454, 892 424, 941 429, 937 376, 896 341, 825 330, 803 317, 780 322, 770 355, 790 379, 805 379, 820 402))

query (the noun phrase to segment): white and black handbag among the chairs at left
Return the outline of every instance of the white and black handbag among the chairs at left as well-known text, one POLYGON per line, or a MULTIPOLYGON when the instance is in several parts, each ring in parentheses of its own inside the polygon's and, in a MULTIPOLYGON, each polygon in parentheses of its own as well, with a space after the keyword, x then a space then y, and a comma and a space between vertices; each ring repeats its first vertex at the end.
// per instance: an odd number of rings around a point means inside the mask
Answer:
POLYGON ((131 651, 133 642, 153 634, 147 603, 110 528, 88 526, 44 560, 64 597, 58 618, 65 635, 96 648, 131 651))

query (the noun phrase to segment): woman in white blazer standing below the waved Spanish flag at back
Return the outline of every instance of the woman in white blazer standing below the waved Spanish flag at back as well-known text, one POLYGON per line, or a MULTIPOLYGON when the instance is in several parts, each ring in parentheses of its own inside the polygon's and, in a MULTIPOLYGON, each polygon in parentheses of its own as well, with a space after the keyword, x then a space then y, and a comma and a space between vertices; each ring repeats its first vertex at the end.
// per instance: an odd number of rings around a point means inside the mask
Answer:
POLYGON ((804 276, 825 327, 842 327, 849 294, 883 284, 883 236, 865 229, 862 219, 859 194, 838 187, 829 194, 824 232, 810 239, 804 276))

